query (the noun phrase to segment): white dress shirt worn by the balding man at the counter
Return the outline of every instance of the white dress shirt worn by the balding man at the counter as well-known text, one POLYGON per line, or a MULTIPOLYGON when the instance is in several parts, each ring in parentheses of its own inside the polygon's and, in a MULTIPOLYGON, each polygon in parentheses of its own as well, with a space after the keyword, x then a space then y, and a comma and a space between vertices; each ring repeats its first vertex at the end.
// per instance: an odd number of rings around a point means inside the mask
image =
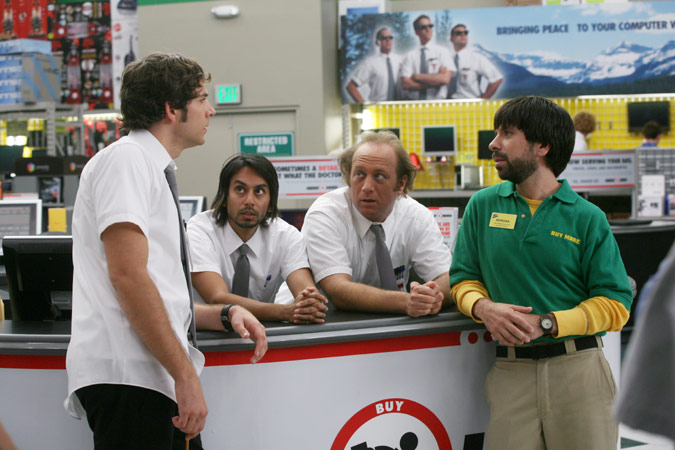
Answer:
MULTIPOLYGON (((307 211, 302 227, 314 279, 319 282, 344 273, 356 283, 379 287, 372 224, 352 204, 349 188, 319 197, 307 211)), ((408 283, 411 266, 425 281, 450 269, 450 249, 443 243, 436 220, 417 201, 399 197, 382 228, 400 289, 408 283)))

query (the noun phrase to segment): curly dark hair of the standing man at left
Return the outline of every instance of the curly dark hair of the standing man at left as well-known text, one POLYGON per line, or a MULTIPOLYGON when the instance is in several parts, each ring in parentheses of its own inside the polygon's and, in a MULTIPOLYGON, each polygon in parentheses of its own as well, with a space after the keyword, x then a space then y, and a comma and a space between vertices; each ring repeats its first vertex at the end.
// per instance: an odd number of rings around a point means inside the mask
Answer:
POLYGON ((164 105, 184 109, 211 80, 197 62, 185 56, 153 53, 129 64, 122 74, 122 127, 147 130, 166 117, 164 105))

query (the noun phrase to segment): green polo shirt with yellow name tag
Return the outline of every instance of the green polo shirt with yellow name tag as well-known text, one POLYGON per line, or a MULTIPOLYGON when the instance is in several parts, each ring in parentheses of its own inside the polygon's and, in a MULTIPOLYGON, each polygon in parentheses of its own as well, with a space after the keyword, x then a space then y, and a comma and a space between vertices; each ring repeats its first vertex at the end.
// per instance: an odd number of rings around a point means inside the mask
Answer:
MULTIPOLYGON (((630 310, 632 291, 605 214, 567 180, 530 214, 506 181, 474 194, 464 212, 450 284, 482 282, 495 302, 534 314, 608 297, 630 310)), ((551 340, 550 337, 541 340, 551 340)))

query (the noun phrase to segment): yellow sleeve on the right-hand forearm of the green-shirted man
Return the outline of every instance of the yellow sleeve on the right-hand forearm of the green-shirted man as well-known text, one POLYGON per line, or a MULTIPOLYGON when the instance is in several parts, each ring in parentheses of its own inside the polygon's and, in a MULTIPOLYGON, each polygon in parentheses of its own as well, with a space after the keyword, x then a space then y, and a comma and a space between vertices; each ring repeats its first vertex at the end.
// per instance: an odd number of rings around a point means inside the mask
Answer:
POLYGON ((556 311, 553 315, 558 322, 556 337, 565 337, 619 331, 628 322, 630 311, 617 300, 591 297, 572 309, 556 311))

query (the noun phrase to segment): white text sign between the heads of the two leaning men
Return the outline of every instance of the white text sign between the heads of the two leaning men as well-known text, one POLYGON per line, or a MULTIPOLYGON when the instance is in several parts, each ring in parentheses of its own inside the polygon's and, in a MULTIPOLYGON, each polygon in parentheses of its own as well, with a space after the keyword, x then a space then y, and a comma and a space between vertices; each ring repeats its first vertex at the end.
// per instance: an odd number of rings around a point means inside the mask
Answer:
POLYGON ((279 177, 280 197, 318 197, 345 185, 337 158, 269 158, 279 177))

